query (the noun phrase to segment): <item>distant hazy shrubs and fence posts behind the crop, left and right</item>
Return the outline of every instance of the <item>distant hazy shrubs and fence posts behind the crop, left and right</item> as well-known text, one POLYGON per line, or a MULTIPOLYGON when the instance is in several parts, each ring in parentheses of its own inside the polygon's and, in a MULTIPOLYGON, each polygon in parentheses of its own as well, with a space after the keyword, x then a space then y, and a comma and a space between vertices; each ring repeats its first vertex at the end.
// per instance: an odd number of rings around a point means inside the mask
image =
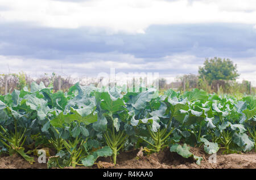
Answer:
MULTIPOLYGON (((31 78, 24 72, 18 74, 1 74, 0 75, 0 94, 11 93, 14 89, 23 89, 25 86, 30 88, 32 82, 40 83, 44 85, 53 85, 53 91, 68 91, 68 89, 76 82, 80 82, 81 85, 95 84, 97 85, 97 79, 90 78, 89 80, 82 81, 79 78, 74 80, 70 77, 63 77, 60 75, 44 74, 39 78, 31 78), (7 84, 6 84, 7 81, 7 84), (6 90, 7 87, 7 90, 6 90)), ((204 78, 200 78, 199 75, 188 74, 177 77, 176 82, 167 83, 164 78, 159 79, 159 89, 163 92, 166 89, 175 89, 175 91, 190 91, 193 88, 204 89, 208 93, 218 94, 233 94, 233 95, 255 95, 255 87, 251 87, 250 82, 243 80, 242 83, 238 83, 234 80, 213 80, 211 83, 207 82, 204 78)))

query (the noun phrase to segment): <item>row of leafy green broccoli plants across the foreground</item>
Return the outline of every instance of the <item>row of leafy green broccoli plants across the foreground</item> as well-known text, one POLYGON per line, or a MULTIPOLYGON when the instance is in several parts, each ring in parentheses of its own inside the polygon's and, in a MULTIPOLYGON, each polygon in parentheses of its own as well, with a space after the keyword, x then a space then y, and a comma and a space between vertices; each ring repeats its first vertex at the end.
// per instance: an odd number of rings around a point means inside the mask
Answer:
POLYGON ((0 96, 0 153, 18 153, 31 164, 36 149, 51 148, 55 156, 47 166, 92 166, 98 157, 144 147, 147 153, 169 147, 183 157, 202 157, 189 145, 204 145, 208 154, 251 151, 256 140, 256 99, 245 96, 180 94, 169 89, 158 95, 154 88, 75 84, 67 93, 53 93, 43 83, 31 91, 0 96), (182 144, 182 145, 181 145, 182 144))

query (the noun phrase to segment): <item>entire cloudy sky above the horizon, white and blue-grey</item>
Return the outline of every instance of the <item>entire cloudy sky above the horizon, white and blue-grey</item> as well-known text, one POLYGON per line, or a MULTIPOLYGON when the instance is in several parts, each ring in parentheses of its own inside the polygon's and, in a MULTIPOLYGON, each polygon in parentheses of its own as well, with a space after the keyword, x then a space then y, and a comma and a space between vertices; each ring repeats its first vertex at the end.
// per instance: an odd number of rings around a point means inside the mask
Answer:
POLYGON ((255 0, 0 0, 0 73, 197 74, 205 58, 255 82, 255 0))

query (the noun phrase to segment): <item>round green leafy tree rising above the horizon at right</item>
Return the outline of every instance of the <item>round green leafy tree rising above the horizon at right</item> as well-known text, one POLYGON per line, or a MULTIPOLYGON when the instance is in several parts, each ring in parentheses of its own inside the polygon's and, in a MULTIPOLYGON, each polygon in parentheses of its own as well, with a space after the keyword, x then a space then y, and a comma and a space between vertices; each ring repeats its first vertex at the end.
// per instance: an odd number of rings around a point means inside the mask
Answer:
POLYGON ((200 78, 212 83, 213 80, 236 80, 239 76, 237 65, 233 64, 230 59, 221 59, 214 57, 206 58, 203 67, 199 67, 200 78))

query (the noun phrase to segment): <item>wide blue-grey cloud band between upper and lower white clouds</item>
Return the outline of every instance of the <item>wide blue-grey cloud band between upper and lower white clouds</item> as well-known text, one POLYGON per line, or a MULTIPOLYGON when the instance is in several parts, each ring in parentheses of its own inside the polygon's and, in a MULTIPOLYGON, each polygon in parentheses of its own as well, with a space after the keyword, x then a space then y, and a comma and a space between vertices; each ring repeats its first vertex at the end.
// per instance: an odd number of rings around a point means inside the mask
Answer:
POLYGON ((192 54, 200 59, 256 56, 256 29, 246 24, 152 25, 145 34, 137 35, 109 34, 100 28, 61 29, 25 23, 2 23, 0 28, 0 55, 24 58, 108 61, 104 54, 113 52, 131 54, 147 62, 163 61, 163 57, 175 54, 192 54))

